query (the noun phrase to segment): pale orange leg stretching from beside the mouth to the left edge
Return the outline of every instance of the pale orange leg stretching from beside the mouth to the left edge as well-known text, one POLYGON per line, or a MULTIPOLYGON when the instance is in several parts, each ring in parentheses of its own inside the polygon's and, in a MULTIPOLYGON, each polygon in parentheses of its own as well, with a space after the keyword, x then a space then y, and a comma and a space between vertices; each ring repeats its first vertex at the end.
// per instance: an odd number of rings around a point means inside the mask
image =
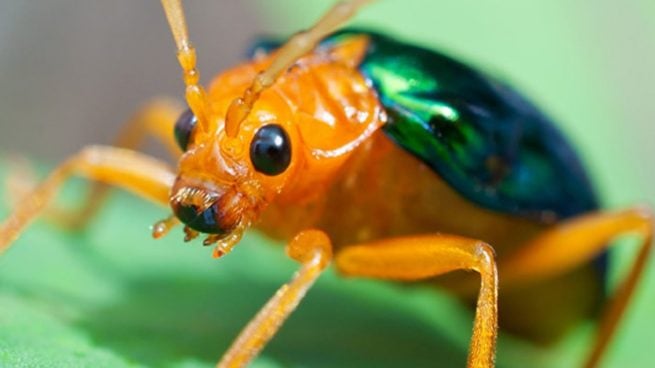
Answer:
POLYGON ((175 174, 168 165, 144 154, 107 146, 89 146, 58 166, 34 191, 24 197, 0 224, 0 254, 20 235, 71 175, 81 175, 167 204, 175 174))

